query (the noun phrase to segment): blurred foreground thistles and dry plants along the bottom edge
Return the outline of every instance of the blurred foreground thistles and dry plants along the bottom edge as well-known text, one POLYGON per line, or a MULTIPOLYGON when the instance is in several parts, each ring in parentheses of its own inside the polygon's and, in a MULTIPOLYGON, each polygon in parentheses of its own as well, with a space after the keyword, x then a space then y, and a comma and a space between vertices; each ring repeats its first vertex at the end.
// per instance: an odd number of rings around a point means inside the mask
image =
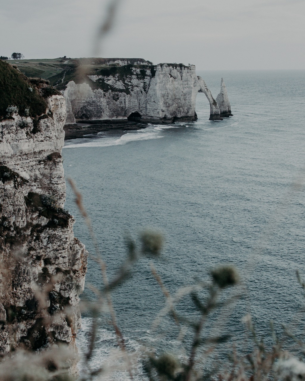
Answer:
MULTIPOLYGON (((267 349, 264 342, 257 337, 251 316, 246 315, 244 322, 247 330, 251 333, 254 350, 246 356, 238 354, 232 347, 231 360, 226 363, 216 363, 215 369, 207 370, 204 355, 213 353, 216 346, 226 343, 231 336, 224 331, 217 335, 209 335, 208 322, 215 320, 215 313, 222 317, 226 308, 234 303, 241 295, 235 290, 240 283, 238 272, 233 266, 218 266, 210 271, 209 281, 197 280, 193 285, 186 285, 171 295, 153 264, 151 274, 159 284, 166 303, 159 312, 153 323, 153 329, 158 331, 161 319, 166 315, 172 319, 178 328, 177 339, 183 343, 186 334, 189 335, 190 344, 183 348, 183 352, 158 351, 156 348, 147 347, 144 344, 140 353, 134 353, 127 349, 125 338, 119 328, 116 313, 112 304, 112 291, 124 285, 126 279, 132 276, 132 266, 142 258, 159 259, 164 246, 164 237, 161 232, 146 229, 141 232, 138 242, 131 237, 126 237, 127 256, 114 277, 109 280, 106 274, 106 263, 100 255, 98 242, 90 222, 90 219, 82 204, 82 197, 77 191, 75 184, 69 181, 76 196, 76 204, 85 218, 90 235, 92 237, 95 254, 92 258, 100 266, 103 282, 99 288, 88 285, 93 291, 95 301, 82 301, 81 308, 90 311, 92 325, 89 331, 88 347, 82 361, 83 369, 80 380, 89 381, 95 379, 112 379, 113 373, 125 372, 126 379, 133 380, 136 374, 136 365, 142 364, 145 378, 149 381, 283 381, 305 380, 305 363, 295 358, 292 354, 282 349, 281 343, 274 333, 271 323, 271 336, 274 344, 267 349), (226 297, 226 295, 229 295, 226 297), (179 311, 178 303, 181 298, 187 298, 189 308, 193 311, 190 315, 183 315, 179 311), (214 314, 214 315, 213 315, 214 314), (110 317, 110 319, 109 319, 110 317), (112 365, 103 362, 99 368, 92 369, 90 360, 96 347, 96 335, 99 319, 109 320, 116 334, 117 349, 111 354, 112 365), (127 373, 126 373, 127 372, 127 373)), ((162 257, 161 257, 162 258, 162 257)), ((58 275, 59 276, 59 275, 58 275)), ((305 283, 297 273, 299 283, 305 290, 305 283)), ((53 283, 55 280, 53 280, 53 283)), ((52 283, 52 284, 53 284, 52 283)), ((50 286, 51 287, 51 286, 50 286)), ((49 288, 50 288, 49 287, 49 288)), ((124 287, 124 286, 123 286, 124 287)), ((45 311, 45 324, 56 324, 56 314, 64 313, 69 319, 68 309, 48 313, 48 285, 37 287, 37 301, 39 308, 45 311), (42 287, 43 286, 43 287, 42 287)), ((237 289, 239 290, 239 289, 237 289)), ((1 317, 1 311, 0 311, 1 317)), ((287 335, 294 339, 297 345, 305 353, 305 345, 300 339, 286 329, 287 335)), ((239 343, 236 347, 238 349, 239 343)), ((72 380, 69 374, 71 359, 75 353, 69 351, 63 345, 49 345, 40 352, 17 350, 0 363, 0 381, 68 381, 72 380)))

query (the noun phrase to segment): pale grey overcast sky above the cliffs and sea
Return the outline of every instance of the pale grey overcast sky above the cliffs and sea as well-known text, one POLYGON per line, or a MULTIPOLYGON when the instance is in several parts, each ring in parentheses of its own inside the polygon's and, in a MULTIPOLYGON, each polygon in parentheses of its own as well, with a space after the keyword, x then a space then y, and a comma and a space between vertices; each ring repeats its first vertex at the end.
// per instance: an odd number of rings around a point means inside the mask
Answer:
POLYGON ((0 55, 144 58, 199 70, 305 69, 305 0, 0 0, 0 55))

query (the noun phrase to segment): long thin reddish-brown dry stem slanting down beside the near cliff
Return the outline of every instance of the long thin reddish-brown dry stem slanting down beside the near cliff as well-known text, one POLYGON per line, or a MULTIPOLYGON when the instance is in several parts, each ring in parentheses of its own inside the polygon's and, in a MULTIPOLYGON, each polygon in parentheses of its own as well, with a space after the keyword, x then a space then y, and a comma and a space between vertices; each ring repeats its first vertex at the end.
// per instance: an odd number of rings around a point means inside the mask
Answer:
MULTIPOLYGON (((106 263, 103 261, 103 259, 100 258, 100 250, 99 250, 98 242, 97 242, 95 234, 93 232, 93 228, 92 228, 92 225, 91 225, 90 218, 88 217, 87 211, 85 210, 85 207, 83 206, 82 195, 77 190, 77 187, 75 186, 75 183, 74 183, 74 181, 71 178, 68 178, 67 181, 69 182, 69 184, 70 184, 70 186, 72 188, 72 191, 74 192, 75 203, 76 203, 77 207, 79 208, 79 211, 82 214, 83 218, 85 219, 86 225, 88 227, 88 230, 89 230, 89 233, 90 233, 90 237, 91 237, 91 239, 93 241, 93 245, 95 247, 95 254, 96 254, 96 256, 93 256, 93 259, 98 264, 100 264, 101 273, 102 273, 102 276, 103 276, 104 287, 107 289, 108 285, 109 285, 109 282, 108 282, 108 277, 107 277, 107 273, 106 273, 106 263)), ((117 344, 119 345, 120 349, 124 353, 125 360, 127 361, 127 364, 128 364, 128 373, 130 375, 130 378, 133 379, 132 370, 131 370, 131 362, 130 362, 130 359, 128 357, 127 351, 126 351, 125 340, 124 340, 124 337, 122 335, 122 332, 119 329, 119 326, 117 325, 116 313, 115 313, 114 308, 113 308, 113 304, 112 304, 112 300, 111 300, 111 295, 110 295, 110 293, 108 291, 106 291, 106 298, 107 298, 107 304, 108 304, 109 312, 110 312, 110 315, 111 315, 111 323, 112 323, 112 326, 113 326, 114 331, 116 333, 117 344)), ((96 327, 95 327, 95 329, 96 329, 96 327)), ((95 332, 95 330, 93 330, 93 333, 94 332, 95 332)), ((93 336, 95 336, 95 335, 92 335, 92 338, 93 338, 93 336)), ((91 345, 93 345, 93 341, 92 341, 92 344, 90 344, 90 346, 91 345)), ((88 352, 88 354, 86 356, 87 359, 90 359, 91 354, 92 354, 92 349, 91 349, 91 351, 89 349, 89 352, 88 352), (90 357, 88 357, 89 354, 90 354, 90 357)))

